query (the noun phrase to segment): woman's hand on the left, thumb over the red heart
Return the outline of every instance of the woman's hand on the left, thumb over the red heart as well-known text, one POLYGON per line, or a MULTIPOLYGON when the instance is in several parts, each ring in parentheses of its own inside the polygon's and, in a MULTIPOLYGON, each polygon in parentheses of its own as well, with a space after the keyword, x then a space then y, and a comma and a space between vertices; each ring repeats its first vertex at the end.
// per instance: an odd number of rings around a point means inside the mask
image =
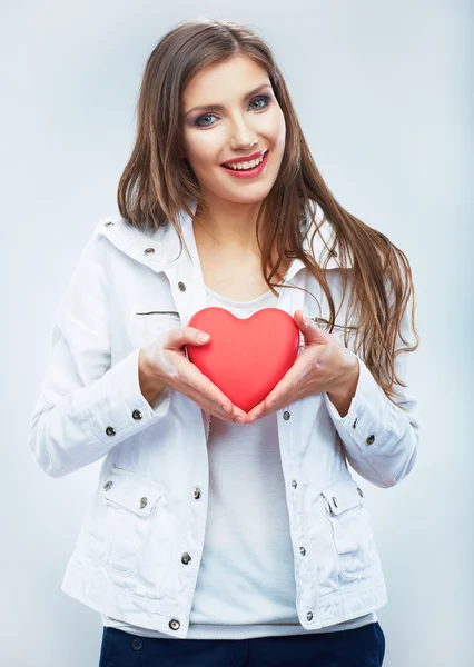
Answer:
POLYGON ((241 422, 245 424, 246 414, 235 406, 197 366, 189 361, 186 355, 185 346, 187 344, 206 345, 209 342, 209 336, 205 340, 199 340, 201 334, 208 336, 194 327, 164 331, 156 340, 140 349, 140 371, 148 379, 156 379, 158 390, 171 387, 194 400, 210 415, 227 421, 238 421, 237 417, 240 417, 241 422))

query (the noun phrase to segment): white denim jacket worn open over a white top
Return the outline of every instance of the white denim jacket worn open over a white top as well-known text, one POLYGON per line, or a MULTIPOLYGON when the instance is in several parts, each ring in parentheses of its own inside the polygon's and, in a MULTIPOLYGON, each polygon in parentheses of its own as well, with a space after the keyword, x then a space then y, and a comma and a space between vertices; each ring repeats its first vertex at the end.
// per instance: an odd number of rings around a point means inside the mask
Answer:
MULTIPOLYGON (((179 253, 171 225, 142 232, 119 216, 98 223, 55 313, 29 440, 51 477, 103 458, 61 589, 99 613, 177 638, 187 636, 203 552, 209 415, 170 388, 150 406, 140 392, 138 354, 206 307, 192 222, 184 212, 181 228, 192 261, 186 249, 179 253)), ((313 246, 319 265, 329 221, 322 231, 324 240, 317 235, 313 246)), ((326 271, 343 323, 347 303, 340 302, 337 257, 330 253, 326 271)), ((322 318, 320 326, 329 319, 324 292, 299 259, 285 282, 309 290, 320 307, 300 289, 282 288, 278 308, 292 317, 303 309, 322 318)), ((412 339, 408 309, 402 332, 412 339)), ((333 334, 343 340, 340 329, 333 334)), ((396 358, 402 379, 408 354, 396 358)), ((367 481, 388 488, 416 458, 416 399, 397 387, 406 411, 394 406, 358 359, 359 380, 345 417, 326 392, 277 412, 296 608, 308 630, 387 601, 364 492, 347 461, 367 481)))

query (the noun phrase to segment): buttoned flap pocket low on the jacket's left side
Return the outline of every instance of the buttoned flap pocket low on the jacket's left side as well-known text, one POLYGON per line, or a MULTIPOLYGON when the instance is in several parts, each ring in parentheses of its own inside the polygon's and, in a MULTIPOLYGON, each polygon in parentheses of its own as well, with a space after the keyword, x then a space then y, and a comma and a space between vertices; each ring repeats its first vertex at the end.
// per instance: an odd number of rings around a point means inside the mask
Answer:
POLYGON ((96 494, 90 556, 116 574, 132 575, 162 494, 150 479, 113 467, 96 494))

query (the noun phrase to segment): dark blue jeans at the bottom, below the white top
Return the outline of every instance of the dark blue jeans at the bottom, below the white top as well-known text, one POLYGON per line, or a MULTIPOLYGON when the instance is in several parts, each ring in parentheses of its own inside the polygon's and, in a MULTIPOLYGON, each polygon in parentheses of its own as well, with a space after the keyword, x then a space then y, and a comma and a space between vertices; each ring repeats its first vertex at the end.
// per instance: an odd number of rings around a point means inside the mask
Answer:
POLYGON ((99 667, 379 667, 384 655, 378 621, 253 639, 157 639, 105 627, 99 667))

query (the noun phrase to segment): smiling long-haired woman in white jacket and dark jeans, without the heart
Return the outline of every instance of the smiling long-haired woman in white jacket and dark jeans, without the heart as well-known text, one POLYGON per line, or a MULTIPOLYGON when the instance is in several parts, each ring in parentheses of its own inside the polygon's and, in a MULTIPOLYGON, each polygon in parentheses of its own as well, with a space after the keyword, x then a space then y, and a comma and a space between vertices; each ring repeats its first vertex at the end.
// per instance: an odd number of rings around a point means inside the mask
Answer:
POLYGON ((118 203, 57 310, 30 438, 52 477, 103 457, 62 583, 101 614, 100 665, 382 665, 347 461, 387 488, 416 458, 405 255, 337 203, 268 46, 229 21, 152 51, 118 203), (207 306, 300 329, 248 414, 187 356, 207 306))

